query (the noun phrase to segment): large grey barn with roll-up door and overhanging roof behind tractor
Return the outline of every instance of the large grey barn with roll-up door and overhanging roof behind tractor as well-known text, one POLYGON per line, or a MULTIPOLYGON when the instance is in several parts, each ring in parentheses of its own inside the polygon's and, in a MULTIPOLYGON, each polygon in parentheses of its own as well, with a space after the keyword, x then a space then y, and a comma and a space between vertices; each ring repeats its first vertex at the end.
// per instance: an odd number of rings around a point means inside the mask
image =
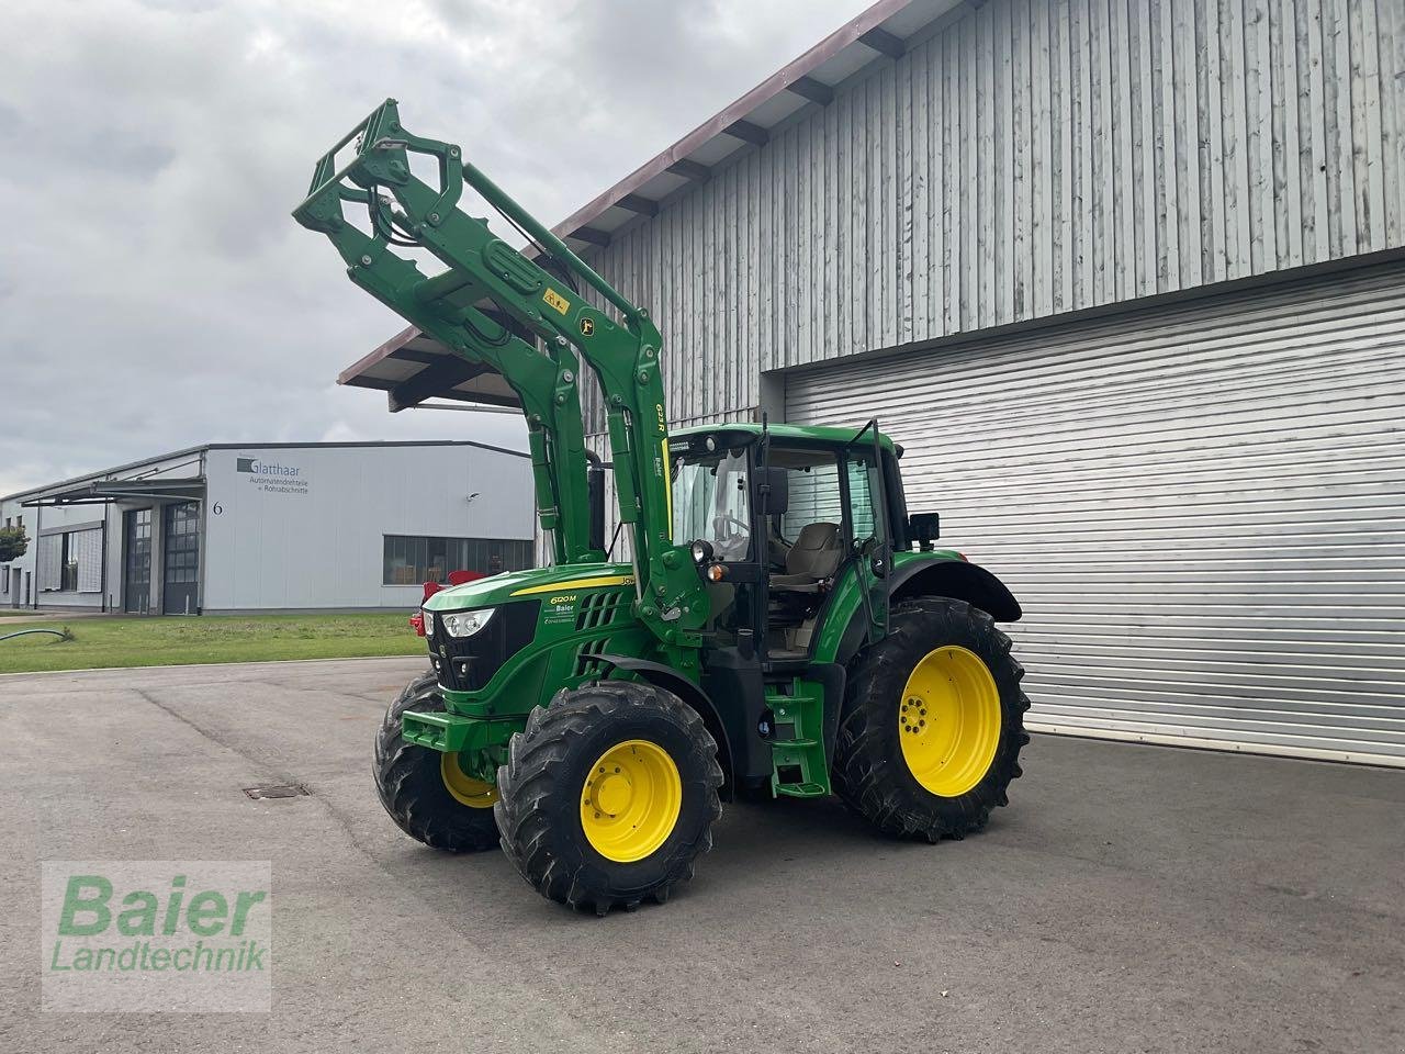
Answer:
POLYGON ((674 423, 880 419, 1031 727, 1405 765, 1399 0, 885 0, 556 233, 674 423))

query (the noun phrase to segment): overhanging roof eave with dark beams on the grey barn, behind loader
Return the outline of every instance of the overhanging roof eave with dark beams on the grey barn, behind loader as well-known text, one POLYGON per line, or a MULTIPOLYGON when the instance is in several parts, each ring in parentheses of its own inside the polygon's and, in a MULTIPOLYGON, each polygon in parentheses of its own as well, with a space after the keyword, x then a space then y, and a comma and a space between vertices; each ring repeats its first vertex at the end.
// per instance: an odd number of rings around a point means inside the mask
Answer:
MULTIPOLYGON (((910 38, 955 8, 984 0, 880 0, 853 21, 781 67, 673 146, 635 169, 552 232, 577 253, 606 247, 627 228, 646 222, 676 197, 808 110, 826 107, 835 89, 874 62, 892 62, 910 38)), ((451 353, 414 326, 346 368, 337 384, 388 393, 391 412, 427 398, 517 406, 503 379, 451 353)))

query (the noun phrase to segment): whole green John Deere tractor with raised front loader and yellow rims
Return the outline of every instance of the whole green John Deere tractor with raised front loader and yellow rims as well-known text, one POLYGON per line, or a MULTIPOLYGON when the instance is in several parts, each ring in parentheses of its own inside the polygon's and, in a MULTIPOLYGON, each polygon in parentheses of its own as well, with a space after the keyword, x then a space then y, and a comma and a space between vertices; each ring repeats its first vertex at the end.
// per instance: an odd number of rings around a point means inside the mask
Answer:
POLYGON ((458 146, 407 132, 393 100, 320 160, 294 216, 351 281, 516 392, 554 549, 554 566, 426 601, 433 672, 375 743, 381 801, 406 833, 500 843, 544 897, 603 915, 690 878, 724 798, 837 793, 880 831, 929 842, 1006 804, 1028 701, 996 623, 1020 606, 933 548, 937 517, 909 514, 902 450, 875 422, 670 431, 649 312, 458 146), (461 208, 465 184, 535 256, 461 208), (424 253, 440 273, 419 268, 424 253), (582 361, 625 561, 606 551, 582 361))

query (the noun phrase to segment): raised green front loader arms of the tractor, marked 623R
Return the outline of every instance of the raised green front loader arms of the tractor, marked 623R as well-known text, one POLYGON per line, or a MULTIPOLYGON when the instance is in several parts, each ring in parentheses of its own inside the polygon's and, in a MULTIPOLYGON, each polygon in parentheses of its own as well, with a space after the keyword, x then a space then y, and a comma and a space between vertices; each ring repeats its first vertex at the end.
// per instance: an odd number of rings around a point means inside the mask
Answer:
POLYGON ((406 132, 393 100, 322 159, 294 216, 332 239, 357 285, 457 354, 502 372, 518 393, 532 429, 541 523, 558 537, 563 562, 599 559, 589 549, 586 527, 577 365, 584 360, 604 396, 620 521, 632 542, 635 614, 667 659, 695 679, 708 600, 687 549, 673 542, 662 340, 648 312, 465 163, 457 145, 406 132), (336 170, 337 153, 353 142, 354 156, 336 170), (437 163, 438 186, 412 173, 410 155, 437 163), (462 211, 465 184, 593 289, 606 309, 496 238, 486 219, 462 211), (348 204, 367 209, 371 233, 348 222, 348 204), (423 247, 447 270, 427 277, 395 252, 398 246, 423 247), (483 311, 488 306, 540 339, 545 351, 495 322, 483 311))

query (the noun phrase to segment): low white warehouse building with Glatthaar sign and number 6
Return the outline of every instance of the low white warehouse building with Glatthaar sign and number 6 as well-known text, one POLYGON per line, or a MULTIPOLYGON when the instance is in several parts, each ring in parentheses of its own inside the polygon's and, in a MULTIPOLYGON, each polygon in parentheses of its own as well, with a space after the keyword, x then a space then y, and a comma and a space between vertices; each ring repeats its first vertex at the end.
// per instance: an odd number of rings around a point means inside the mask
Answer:
POLYGON ((207 444, 0 499, 0 611, 406 610, 532 565, 531 462, 481 443, 207 444))

